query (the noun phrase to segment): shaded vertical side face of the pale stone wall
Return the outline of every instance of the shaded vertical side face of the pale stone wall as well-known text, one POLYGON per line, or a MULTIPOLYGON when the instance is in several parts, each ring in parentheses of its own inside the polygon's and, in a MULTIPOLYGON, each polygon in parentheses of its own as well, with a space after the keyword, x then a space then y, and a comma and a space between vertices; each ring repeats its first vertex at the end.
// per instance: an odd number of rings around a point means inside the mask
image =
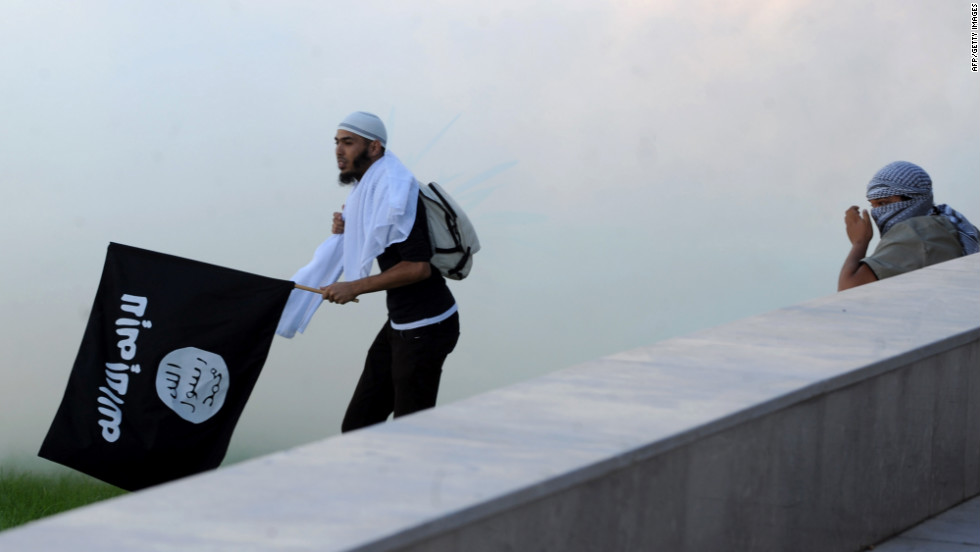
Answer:
POLYGON ((862 549, 980 492, 978 353, 974 341, 671 450, 637 451, 405 550, 862 549))

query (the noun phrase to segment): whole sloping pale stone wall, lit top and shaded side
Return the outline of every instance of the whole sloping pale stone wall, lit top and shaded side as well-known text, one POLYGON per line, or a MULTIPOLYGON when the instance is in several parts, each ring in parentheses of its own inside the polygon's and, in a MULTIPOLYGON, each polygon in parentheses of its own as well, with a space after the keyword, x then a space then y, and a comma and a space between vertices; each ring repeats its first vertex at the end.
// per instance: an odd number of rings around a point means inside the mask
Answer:
POLYGON ((859 550, 980 494, 980 255, 0 533, 0 550, 859 550))

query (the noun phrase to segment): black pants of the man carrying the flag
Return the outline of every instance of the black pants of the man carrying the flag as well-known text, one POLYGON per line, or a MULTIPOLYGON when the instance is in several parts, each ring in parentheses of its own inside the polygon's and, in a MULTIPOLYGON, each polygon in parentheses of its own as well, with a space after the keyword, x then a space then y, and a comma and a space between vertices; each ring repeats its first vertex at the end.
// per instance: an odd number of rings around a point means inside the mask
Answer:
POLYGON ((352 431, 436 405, 442 363, 459 340, 459 314, 414 330, 392 329, 374 338, 364 372, 347 406, 341 431, 352 431))

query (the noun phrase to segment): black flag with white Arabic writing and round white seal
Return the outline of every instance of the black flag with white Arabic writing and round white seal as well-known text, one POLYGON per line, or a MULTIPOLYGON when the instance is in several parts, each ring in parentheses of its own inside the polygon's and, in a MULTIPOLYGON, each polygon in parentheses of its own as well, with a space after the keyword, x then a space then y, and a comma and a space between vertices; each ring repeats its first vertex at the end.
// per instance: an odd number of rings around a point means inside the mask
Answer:
POLYGON ((293 283, 109 244, 38 453, 127 490, 216 468, 293 283))

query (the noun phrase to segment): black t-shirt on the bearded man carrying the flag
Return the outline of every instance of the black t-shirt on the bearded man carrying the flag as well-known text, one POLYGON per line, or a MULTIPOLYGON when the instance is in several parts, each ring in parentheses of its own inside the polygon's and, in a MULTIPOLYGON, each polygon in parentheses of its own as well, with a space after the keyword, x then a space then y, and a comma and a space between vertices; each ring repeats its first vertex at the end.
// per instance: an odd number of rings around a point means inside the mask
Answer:
MULTIPOLYGON (((425 205, 418 199, 415 224, 405 241, 389 245, 378 255, 378 267, 382 272, 401 261, 420 262, 432 259, 429 226, 425 218, 425 205)), ((453 306, 456 300, 439 270, 430 265, 432 273, 421 282, 389 289, 387 291, 388 317, 396 324, 407 324, 438 316, 453 306)))

